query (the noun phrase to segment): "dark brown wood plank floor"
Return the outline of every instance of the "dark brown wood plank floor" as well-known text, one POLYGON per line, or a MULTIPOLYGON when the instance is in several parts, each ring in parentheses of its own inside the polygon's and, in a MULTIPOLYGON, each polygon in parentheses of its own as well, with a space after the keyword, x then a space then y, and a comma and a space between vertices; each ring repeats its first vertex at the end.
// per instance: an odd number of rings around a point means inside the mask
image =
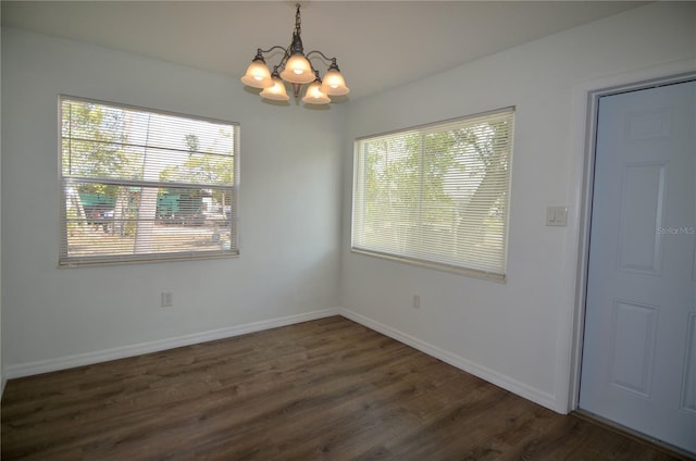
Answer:
POLYGON ((671 460, 343 317, 11 379, 2 459, 671 460))

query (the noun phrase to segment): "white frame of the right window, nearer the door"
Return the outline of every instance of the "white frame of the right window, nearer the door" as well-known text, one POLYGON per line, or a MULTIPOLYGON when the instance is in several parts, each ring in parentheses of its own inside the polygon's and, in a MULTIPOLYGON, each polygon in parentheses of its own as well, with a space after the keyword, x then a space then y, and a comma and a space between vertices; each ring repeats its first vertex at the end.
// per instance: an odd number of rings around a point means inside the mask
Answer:
MULTIPOLYGON (((461 117, 448 119, 439 122, 410 126, 406 128, 394 129, 390 132, 356 138, 353 144, 353 178, 352 178, 352 202, 351 202, 352 209, 351 209, 351 229, 350 229, 351 230, 351 237, 350 237, 351 252, 356 254, 364 254, 364 256, 376 257, 376 258, 386 259, 390 261, 407 263, 407 264, 417 265, 421 267, 457 273, 457 274, 477 277, 477 278, 485 278, 485 279, 499 282, 499 283, 507 282, 508 252, 509 252, 508 241, 509 241, 509 233, 510 233, 510 203, 511 203, 511 191, 512 191, 512 162, 514 157, 513 140, 514 140, 515 113, 517 113, 517 108, 511 105, 511 107, 500 108, 492 111, 465 115, 461 117), (475 123, 476 120, 486 120, 489 117, 504 116, 506 114, 509 116, 509 125, 510 125, 508 129, 508 139, 507 139, 507 142, 509 145, 509 153, 508 153, 508 172, 507 172, 507 178, 505 184, 505 187, 506 187, 505 194, 507 195, 506 209, 502 215, 502 221, 505 225, 502 242, 501 242, 502 263, 499 271, 486 271, 486 270, 471 267, 462 264, 451 264, 448 262, 434 260, 432 258, 419 258, 417 256, 400 254, 394 251, 389 251, 386 248, 369 248, 370 247, 369 245, 362 245, 362 244, 357 245, 357 237, 358 237, 357 234, 359 234, 361 230, 364 232, 364 229, 358 228, 358 226, 362 225, 362 224, 357 224, 357 221, 360 221, 358 216, 358 213, 360 211, 358 210, 358 208, 364 207, 365 202, 368 201, 366 199, 368 194, 364 190, 366 188, 366 186, 364 185, 365 179, 364 177, 361 177, 361 175, 363 176, 365 175, 365 162, 368 157, 365 152, 361 152, 361 146, 363 142, 369 141, 371 139, 378 140, 381 138, 398 136, 399 134, 407 136, 410 133, 417 133, 421 136, 421 139, 423 139, 427 134, 432 134, 434 132, 437 133, 437 129, 440 127, 453 125, 457 123, 461 123, 461 124, 465 124, 467 122, 475 123), (358 188, 360 187, 361 182, 363 182, 363 186, 362 186, 363 189, 360 191, 360 197, 357 198, 358 188)), ((423 149, 424 148, 421 148, 421 153, 419 154, 420 155, 419 161, 421 162, 421 166, 422 166, 423 157, 424 157, 424 154, 422 153, 423 149)), ((419 207, 420 207, 420 203, 422 203, 423 201, 423 196, 422 196, 423 184, 424 184, 423 177, 421 177, 419 184, 421 188, 421 191, 420 191, 421 195, 419 196, 420 198, 419 207)), ((423 225, 423 222, 420 222, 420 223, 421 225, 423 225)), ((363 237, 363 240, 364 240, 364 237, 363 237)))

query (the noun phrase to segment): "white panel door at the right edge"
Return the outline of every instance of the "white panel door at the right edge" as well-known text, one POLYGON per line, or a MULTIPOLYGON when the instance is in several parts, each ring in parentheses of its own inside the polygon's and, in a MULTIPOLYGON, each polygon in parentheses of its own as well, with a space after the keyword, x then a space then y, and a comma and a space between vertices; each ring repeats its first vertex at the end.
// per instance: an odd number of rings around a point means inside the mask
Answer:
POLYGON ((580 408, 696 453, 696 82, 600 98, 580 408))

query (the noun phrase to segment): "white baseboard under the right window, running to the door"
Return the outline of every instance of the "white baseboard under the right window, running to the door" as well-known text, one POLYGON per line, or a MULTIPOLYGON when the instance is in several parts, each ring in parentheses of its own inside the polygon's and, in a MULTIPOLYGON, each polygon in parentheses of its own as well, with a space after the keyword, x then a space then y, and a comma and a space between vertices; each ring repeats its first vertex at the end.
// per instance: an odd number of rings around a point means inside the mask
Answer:
POLYGON ((405 345, 411 346, 412 348, 418 349, 421 352, 439 359, 445 363, 449 363, 450 365, 463 370, 467 373, 478 376, 480 378, 485 379, 488 383, 495 384, 498 387, 501 387, 506 390, 517 394, 520 397, 523 397, 527 400, 540 404, 542 407, 546 407, 549 410, 554 410, 557 412, 556 399, 548 393, 543 393, 538 389, 527 386, 524 383, 520 383, 519 381, 513 379, 510 376, 506 376, 504 374, 495 372, 490 369, 480 365, 478 363, 472 362, 471 360, 464 359, 463 357, 457 356, 456 353, 451 353, 447 350, 440 349, 437 346, 433 346, 428 342, 422 341, 418 338, 414 338, 413 336, 407 335, 406 333, 399 332, 398 329, 391 328, 390 326, 384 325, 348 309, 341 308, 339 310, 339 314, 345 316, 346 319, 352 320, 353 322, 358 322, 370 329, 380 332, 383 335, 403 342, 405 345))

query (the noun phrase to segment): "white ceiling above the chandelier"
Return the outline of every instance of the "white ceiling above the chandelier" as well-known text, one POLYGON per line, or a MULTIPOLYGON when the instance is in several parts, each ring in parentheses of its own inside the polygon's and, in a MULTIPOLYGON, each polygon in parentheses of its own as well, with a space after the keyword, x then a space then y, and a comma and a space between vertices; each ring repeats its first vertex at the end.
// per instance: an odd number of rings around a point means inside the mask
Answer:
MULTIPOLYGON (((318 49, 338 58, 350 99, 645 4, 300 3, 304 51, 318 49)), ((2 1, 1 13, 3 27, 92 42, 234 77, 244 74, 257 48, 287 47, 295 27, 294 1, 2 1)))

